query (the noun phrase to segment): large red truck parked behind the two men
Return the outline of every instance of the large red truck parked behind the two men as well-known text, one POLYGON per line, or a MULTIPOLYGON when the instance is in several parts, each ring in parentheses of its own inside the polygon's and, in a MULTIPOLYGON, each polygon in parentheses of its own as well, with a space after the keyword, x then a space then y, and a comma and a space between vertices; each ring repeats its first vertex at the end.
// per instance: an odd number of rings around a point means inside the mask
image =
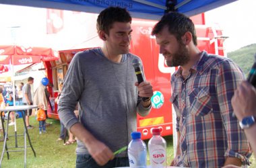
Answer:
MULTIPOLYGON (((195 15, 191 19, 195 23, 199 49, 224 56, 223 42, 225 38, 222 36, 222 31, 205 26, 204 13, 195 15)), ((172 112, 174 110, 172 109, 172 103, 169 101, 171 95, 170 76, 177 68, 167 67, 164 56, 159 53, 159 46, 156 44, 156 39, 154 36, 151 36, 152 28, 155 24, 156 21, 142 19, 133 19, 131 24, 133 28, 131 53, 140 56, 146 79, 150 81, 154 90, 152 111, 146 117, 137 116, 137 131, 141 132, 141 138, 143 139, 151 138, 152 134, 150 130, 155 127, 162 129, 162 136, 172 134, 172 112)), ((92 47, 98 47, 99 43, 95 39, 92 40, 92 47)), ((59 83, 63 81, 69 62, 75 53, 88 49, 90 48, 60 50, 59 60, 44 62, 46 76, 54 85, 50 89, 53 99, 58 95, 59 83)), ((50 118, 59 119, 57 104, 54 103, 53 99, 51 103, 53 110, 49 109, 48 115, 50 118)))

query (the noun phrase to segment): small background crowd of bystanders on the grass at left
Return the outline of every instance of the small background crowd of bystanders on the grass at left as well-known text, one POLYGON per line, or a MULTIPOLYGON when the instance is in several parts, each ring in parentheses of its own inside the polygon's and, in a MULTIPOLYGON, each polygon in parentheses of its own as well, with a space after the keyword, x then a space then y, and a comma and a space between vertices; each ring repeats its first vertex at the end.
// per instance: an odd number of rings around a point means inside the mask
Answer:
MULTIPOLYGON (((47 89, 47 86, 51 85, 49 81, 45 83, 43 78, 42 81, 40 81, 39 86, 36 88, 36 91, 32 91, 32 85, 34 83, 33 77, 28 77, 28 82, 24 85, 24 83, 19 83, 18 89, 15 87, 15 105, 16 106, 23 106, 23 105, 36 105, 38 106, 38 109, 35 111, 34 115, 36 116, 36 120, 38 121, 38 128, 39 128, 39 134, 46 133, 46 126, 49 126, 49 123, 46 123, 47 116, 47 109, 49 106, 51 106, 50 102, 50 93, 47 89)), ((48 79, 47 79, 48 80, 48 79)), ((62 85, 62 84, 61 84, 62 85)), ((61 87, 60 87, 61 91, 61 87)), ((6 106, 13 106, 14 104, 14 95, 12 87, 5 87, 4 85, 0 85, 0 104, 4 103, 6 106)), ((56 101, 59 97, 56 98, 56 101)), ((77 114, 77 110, 75 111, 77 114)), ((10 113, 10 122, 9 126, 15 125, 15 117, 19 117, 19 114, 15 114, 15 112, 9 112, 10 113)), ((26 120, 26 127, 27 129, 33 129, 35 126, 32 126, 30 124, 30 116, 32 116, 32 110, 26 110, 25 111, 25 120, 26 120)), ((1 114, 3 118, 7 119, 7 113, 1 114)), ((78 115, 78 114, 77 114, 78 115)), ((67 142, 64 143, 64 145, 73 144, 76 142, 75 137, 71 132, 64 131, 65 128, 61 122, 61 136, 57 139, 63 140, 65 142, 65 137, 68 135, 69 138, 67 142)), ((0 120, 0 132, 3 132, 1 120, 0 120)), ((0 141, 3 141, 3 138, 0 138, 0 141)))

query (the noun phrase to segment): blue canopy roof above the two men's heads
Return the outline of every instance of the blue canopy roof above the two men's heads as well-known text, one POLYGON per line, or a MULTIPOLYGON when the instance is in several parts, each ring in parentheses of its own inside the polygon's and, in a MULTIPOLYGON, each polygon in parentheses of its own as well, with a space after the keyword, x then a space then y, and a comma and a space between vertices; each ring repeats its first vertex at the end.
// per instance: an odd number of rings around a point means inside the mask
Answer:
POLYGON ((126 7, 132 17, 160 19, 168 11, 197 15, 237 0, 0 0, 7 5, 23 5, 100 13, 108 6, 126 7))

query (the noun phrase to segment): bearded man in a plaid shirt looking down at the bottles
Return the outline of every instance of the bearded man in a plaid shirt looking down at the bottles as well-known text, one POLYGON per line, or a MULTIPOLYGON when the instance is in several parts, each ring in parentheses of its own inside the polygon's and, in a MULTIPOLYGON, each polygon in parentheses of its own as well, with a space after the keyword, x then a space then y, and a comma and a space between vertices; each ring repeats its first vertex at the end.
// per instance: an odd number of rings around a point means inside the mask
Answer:
POLYGON ((177 153, 172 166, 249 165, 251 148, 236 118, 231 98, 245 75, 232 60, 197 48, 195 26, 182 13, 166 13, 152 35, 171 77, 177 114, 177 153))

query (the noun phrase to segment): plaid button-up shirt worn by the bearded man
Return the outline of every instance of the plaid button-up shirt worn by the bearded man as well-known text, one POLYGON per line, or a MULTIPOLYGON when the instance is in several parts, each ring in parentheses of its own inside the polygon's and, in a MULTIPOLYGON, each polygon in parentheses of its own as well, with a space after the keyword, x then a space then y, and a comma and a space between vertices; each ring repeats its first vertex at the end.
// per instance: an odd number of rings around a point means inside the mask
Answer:
POLYGON ((228 58, 203 51, 184 79, 180 67, 171 78, 171 101, 183 167, 222 167, 226 157, 249 164, 251 149, 238 120, 232 117, 231 98, 245 75, 228 58))

